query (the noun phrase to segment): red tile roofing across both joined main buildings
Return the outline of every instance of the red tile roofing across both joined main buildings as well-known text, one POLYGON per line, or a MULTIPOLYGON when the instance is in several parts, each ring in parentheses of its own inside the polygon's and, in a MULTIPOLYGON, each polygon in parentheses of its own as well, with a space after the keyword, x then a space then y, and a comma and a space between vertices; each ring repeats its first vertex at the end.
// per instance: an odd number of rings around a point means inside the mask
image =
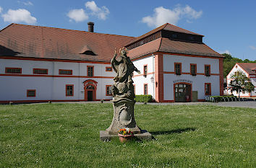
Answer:
MULTIPOLYGON (((137 38, 54 27, 11 24, 0 31, 0 56, 109 62, 114 55, 114 48, 118 50, 125 44, 158 30, 198 35, 170 24, 162 25, 137 38), (88 50, 91 50, 96 56, 81 54, 88 50)), ((223 57, 203 43, 187 43, 163 37, 129 50, 128 56, 138 58, 157 51, 223 57)))

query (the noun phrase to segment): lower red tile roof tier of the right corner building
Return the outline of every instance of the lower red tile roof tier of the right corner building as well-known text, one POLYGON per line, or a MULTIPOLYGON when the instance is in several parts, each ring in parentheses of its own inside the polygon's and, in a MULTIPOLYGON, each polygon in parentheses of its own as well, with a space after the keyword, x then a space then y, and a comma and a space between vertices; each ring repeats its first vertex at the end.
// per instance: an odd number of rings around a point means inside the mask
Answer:
POLYGON ((166 52, 166 53, 182 53, 187 55, 196 56, 213 56, 224 57, 216 51, 209 48, 204 43, 188 43, 182 41, 169 40, 168 38, 158 38, 137 48, 129 50, 128 56, 137 58, 145 56, 153 52, 166 52))

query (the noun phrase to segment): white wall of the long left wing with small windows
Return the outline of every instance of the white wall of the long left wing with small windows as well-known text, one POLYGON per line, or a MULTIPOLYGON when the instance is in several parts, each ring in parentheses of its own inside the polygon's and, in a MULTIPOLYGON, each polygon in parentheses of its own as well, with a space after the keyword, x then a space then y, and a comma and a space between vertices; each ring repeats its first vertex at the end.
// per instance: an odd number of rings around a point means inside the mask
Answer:
POLYGON ((113 84, 115 72, 106 71, 107 63, 79 63, 61 61, 31 61, 0 59, 0 102, 5 101, 61 101, 85 100, 84 81, 97 82, 94 100, 111 100, 106 86, 113 84), (87 66, 93 66, 93 76, 87 76, 87 66), (21 74, 7 74, 5 68, 22 68, 21 74), (33 68, 48 69, 48 74, 33 74, 33 68), (72 75, 61 75, 59 69, 72 70, 72 75), (66 96, 66 85, 74 85, 73 96, 66 96), (35 97, 27 97, 27 90, 35 89, 35 97))

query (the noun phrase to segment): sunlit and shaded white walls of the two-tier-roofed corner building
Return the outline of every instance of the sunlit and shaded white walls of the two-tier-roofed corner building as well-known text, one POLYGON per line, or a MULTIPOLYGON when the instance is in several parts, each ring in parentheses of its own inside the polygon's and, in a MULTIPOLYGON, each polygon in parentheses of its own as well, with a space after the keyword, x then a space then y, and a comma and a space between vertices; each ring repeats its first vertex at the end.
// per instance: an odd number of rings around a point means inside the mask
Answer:
MULTIPOLYGON (((135 94, 144 94, 144 84, 148 84, 148 94, 153 95, 157 86, 155 83, 155 56, 148 56, 133 62, 142 74, 135 73, 135 94), (143 76, 143 66, 148 66, 148 75, 143 76), (153 79, 153 80, 152 80, 153 79), (152 82, 153 81, 153 82, 152 82)), ((197 101, 205 100, 206 96, 220 95, 220 62, 218 58, 196 57, 196 56, 177 56, 163 54, 163 102, 175 102, 175 85, 191 85, 191 92, 197 91, 197 101), (174 64, 182 63, 182 74, 176 75, 174 64), (197 75, 190 74, 190 63, 197 65, 197 75), (210 76, 205 76, 205 65, 210 65, 210 76), (205 84, 210 84, 210 94, 205 94, 205 84)), ((222 68, 222 67, 221 67, 222 68)), ((192 94, 192 93, 191 93, 192 94)), ((189 101, 192 100, 190 94, 189 101)))

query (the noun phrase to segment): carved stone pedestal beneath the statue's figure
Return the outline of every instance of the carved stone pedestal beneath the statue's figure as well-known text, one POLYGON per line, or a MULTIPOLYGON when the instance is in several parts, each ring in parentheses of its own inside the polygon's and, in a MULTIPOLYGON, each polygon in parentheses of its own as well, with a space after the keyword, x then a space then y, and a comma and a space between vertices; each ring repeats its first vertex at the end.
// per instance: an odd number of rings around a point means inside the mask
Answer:
POLYGON ((121 128, 129 128, 133 133, 140 133, 140 128, 135 122, 135 100, 118 98, 112 100, 114 118, 111 125, 106 129, 109 134, 117 134, 121 128))

